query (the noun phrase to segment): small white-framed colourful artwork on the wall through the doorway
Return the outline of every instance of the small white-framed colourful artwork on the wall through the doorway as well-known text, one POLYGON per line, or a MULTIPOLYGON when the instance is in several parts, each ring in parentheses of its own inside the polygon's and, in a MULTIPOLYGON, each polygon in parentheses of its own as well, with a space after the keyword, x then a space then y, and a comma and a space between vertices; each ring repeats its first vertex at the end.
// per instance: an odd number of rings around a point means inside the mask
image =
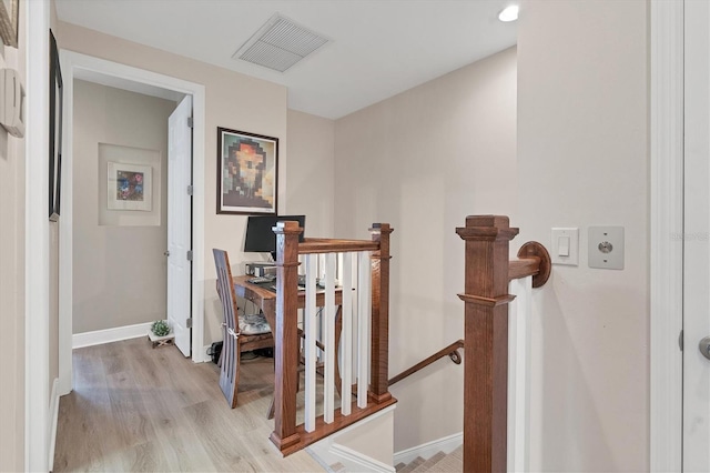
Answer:
POLYGON ((152 168, 142 164, 108 162, 108 208, 110 210, 143 210, 153 205, 152 168))

